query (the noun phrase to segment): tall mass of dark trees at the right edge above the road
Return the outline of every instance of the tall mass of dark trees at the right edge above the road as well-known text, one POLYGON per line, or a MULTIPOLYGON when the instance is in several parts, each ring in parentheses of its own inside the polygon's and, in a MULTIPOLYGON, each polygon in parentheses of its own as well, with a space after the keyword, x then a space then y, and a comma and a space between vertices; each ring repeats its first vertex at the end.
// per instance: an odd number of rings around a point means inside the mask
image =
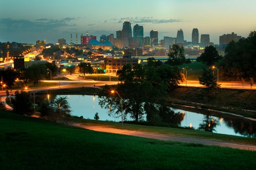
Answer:
POLYGON ((225 77, 256 79, 256 31, 251 32, 247 38, 238 42, 230 42, 226 48, 226 55, 221 62, 225 77))

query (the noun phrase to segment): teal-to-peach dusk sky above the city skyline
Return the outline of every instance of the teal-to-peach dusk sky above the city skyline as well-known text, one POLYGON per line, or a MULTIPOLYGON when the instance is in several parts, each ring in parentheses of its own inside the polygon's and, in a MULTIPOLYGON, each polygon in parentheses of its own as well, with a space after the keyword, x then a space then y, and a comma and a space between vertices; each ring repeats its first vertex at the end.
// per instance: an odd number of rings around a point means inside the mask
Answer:
MULTIPOLYGON (((128 19, 143 25, 144 36, 177 36, 191 41, 193 28, 219 43, 222 34, 247 37, 256 30, 256 0, 0 0, 0 42, 36 43, 76 34, 114 34, 128 19)), ((200 39, 200 38, 199 38, 200 39)), ((80 42, 80 38, 78 38, 80 42)))

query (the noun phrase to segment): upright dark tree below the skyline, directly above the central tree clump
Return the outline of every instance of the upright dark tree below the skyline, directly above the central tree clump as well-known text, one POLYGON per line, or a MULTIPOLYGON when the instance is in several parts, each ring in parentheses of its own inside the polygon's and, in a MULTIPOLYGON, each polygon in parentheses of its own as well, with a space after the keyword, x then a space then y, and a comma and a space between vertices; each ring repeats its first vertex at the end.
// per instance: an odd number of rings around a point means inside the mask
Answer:
POLYGON ((167 60, 167 64, 177 66, 186 63, 184 48, 179 47, 177 44, 172 45, 171 51, 168 56, 169 58, 167 60))

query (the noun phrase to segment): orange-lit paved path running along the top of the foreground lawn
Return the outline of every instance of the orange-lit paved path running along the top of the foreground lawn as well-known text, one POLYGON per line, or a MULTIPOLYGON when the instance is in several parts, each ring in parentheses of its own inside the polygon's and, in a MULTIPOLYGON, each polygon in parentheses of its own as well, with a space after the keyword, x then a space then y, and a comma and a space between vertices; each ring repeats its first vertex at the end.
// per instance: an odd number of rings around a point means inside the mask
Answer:
POLYGON ((205 139, 165 136, 165 135, 159 135, 159 134, 152 134, 152 133, 138 132, 138 131, 131 131, 131 130, 122 130, 122 129, 108 128, 108 127, 101 127, 101 126, 87 126, 79 123, 74 124, 74 126, 93 130, 93 131, 98 131, 98 132, 139 136, 139 137, 153 138, 158 140, 171 140, 171 141, 187 142, 187 143, 199 143, 203 145, 215 145, 215 146, 221 146, 221 147, 230 147, 235 149, 256 151, 256 145, 254 146, 254 145, 236 144, 236 143, 228 143, 228 142, 217 142, 217 141, 205 140, 205 139))

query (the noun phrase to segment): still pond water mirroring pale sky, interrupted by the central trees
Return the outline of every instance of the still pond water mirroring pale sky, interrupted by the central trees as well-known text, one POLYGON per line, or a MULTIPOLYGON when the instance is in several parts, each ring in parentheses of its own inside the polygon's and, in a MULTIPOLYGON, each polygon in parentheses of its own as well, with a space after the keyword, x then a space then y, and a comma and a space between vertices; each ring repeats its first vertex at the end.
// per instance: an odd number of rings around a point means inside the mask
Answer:
MULTIPOLYGON (((50 94, 50 99, 56 95, 50 94)), ((60 97, 67 97, 68 95, 60 95, 60 97)), ((42 100, 48 100, 47 94, 36 95, 36 102, 42 100)), ((83 118, 94 119, 95 113, 98 112, 99 120, 112 120, 121 121, 120 117, 113 117, 108 115, 110 109, 116 109, 114 105, 108 104, 106 108, 101 108, 98 105, 98 96, 90 95, 70 95, 68 98, 72 115, 83 116, 83 118)), ((195 129, 201 129, 208 132, 247 136, 256 138, 256 122, 236 118, 230 115, 223 115, 222 117, 212 116, 211 114, 203 115, 200 113, 185 111, 181 109, 175 109, 172 107, 161 108, 161 118, 164 118, 165 122, 177 124, 180 126, 193 126, 195 129), (210 124, 210 126, 209 126, 210 124)), ((152 110, 153 111, 153 110, 152 110)), ((127 120, 134 120, 127 115, 127 120)), ((147 116, 144 115, 146 120, 147 116)))

